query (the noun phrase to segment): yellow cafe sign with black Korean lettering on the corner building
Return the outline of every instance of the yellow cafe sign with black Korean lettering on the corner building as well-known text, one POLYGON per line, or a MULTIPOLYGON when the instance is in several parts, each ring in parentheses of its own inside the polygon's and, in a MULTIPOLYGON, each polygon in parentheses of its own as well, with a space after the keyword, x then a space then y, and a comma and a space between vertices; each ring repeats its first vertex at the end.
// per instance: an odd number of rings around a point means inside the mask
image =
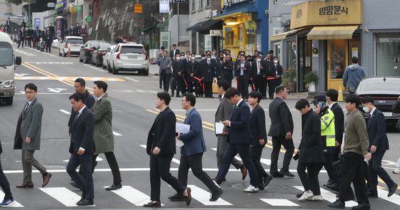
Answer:
POLYGON ((291 8, 290 29, 305 26, 360 25, 362 0, 306 1, 291 8))

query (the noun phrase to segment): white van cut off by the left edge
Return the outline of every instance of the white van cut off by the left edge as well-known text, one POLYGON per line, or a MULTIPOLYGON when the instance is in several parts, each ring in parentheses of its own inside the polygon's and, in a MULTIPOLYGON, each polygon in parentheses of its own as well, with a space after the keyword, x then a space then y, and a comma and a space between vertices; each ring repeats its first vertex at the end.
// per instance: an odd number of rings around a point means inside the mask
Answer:
POLYGON ((11 38, 0 32, 0 101, 12 105, 14 99, 15 66, 21 65, 21 57, 14 56, 11 38))

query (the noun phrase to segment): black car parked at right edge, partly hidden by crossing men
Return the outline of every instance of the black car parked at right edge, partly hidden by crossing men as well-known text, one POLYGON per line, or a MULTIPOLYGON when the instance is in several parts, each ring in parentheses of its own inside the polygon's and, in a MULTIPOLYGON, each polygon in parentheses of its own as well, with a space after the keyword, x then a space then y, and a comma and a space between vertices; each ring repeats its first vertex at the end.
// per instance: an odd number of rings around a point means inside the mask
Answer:
MULTIPOLYGON (((374 77, 364 78, 361 80, 356 94, 360 99, 366 95, 374 98, 375 107, 384 113, 386 122, 397 122, 399 113, 391 111, 391 107, 400 95, 400 78, 399 77, 374 77)), ((362 110, 362 107, 361 107, 362 110)), ((364 117, 369 118, 369 114, 364 113, 364 117)))

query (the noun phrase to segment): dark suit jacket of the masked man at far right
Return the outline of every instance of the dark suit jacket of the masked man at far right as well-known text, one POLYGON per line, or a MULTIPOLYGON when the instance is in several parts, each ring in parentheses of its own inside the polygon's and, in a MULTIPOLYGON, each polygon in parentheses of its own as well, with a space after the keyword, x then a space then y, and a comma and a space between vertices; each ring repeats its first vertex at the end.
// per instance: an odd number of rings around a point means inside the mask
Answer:
POLYGON ((375 109, 366 124, 368 131, 369 149, 376 146, 376 152, 385 152, 389 149, 389 140, 386 135, 385 116, 381 110, 375 109))

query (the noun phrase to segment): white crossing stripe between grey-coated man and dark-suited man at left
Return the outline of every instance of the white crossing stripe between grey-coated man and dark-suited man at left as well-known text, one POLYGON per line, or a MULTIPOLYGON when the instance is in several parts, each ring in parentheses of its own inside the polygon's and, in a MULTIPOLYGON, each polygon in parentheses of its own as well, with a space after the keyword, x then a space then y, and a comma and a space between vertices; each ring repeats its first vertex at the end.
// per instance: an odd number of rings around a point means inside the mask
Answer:
POLYGON ((64 204, 64 206, 68 207, 78 206, 76 205, 76 202, 81 199, 81 196, 69 189, 66 189, 65 187, 46 187, 39 189, 59 201, 61 204, 64 204))

